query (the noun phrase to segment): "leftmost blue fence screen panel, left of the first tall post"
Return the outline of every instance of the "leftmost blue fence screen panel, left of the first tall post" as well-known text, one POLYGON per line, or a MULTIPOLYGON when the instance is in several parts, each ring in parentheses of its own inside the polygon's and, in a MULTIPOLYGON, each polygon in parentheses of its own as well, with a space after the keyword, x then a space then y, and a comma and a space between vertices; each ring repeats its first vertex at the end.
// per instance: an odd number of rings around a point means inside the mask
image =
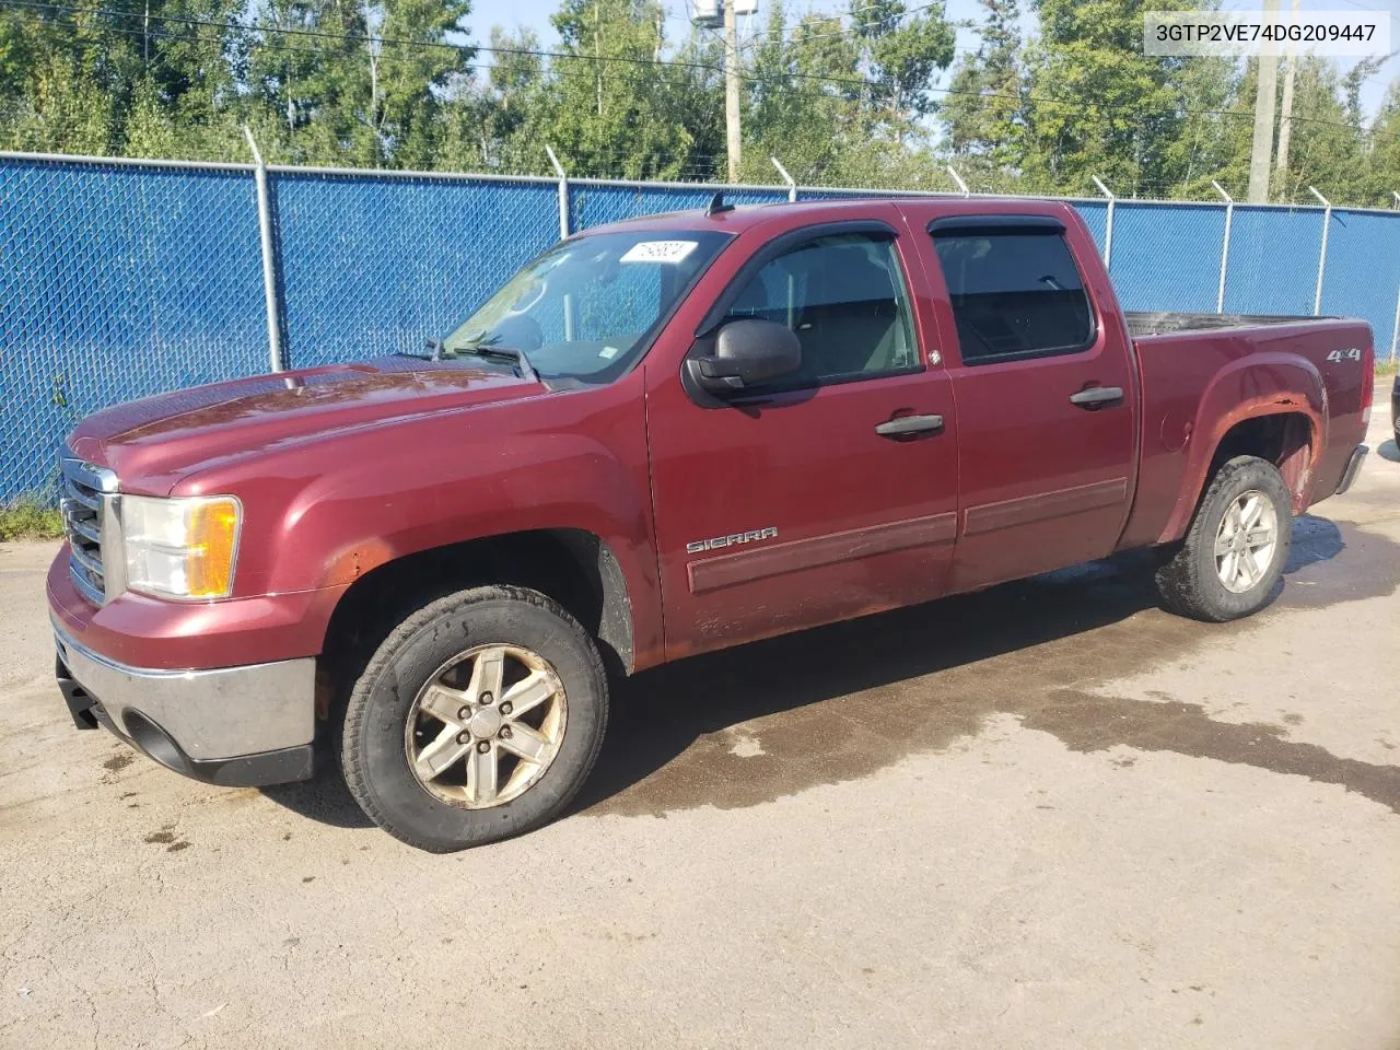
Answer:
POLYGON ((0 498, 83 416, 267 370, 248 172, 0 161, 0 498))

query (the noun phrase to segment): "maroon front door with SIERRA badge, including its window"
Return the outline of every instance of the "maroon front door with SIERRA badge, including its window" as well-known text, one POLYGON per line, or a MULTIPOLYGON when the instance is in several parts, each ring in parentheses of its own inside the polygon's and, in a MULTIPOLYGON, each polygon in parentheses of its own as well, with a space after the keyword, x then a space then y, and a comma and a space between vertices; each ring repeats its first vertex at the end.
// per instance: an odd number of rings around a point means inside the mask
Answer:
POLYGON ((673 361, 648 361, 669 658, 941 592, 958 426, 949 379, 920 350, 932 318, 911 305, 927 307, 910 294, 916 256, 890 221, 788 235, 724 293, 725 319, 797 333, 797 375, 703 403, 673 361))

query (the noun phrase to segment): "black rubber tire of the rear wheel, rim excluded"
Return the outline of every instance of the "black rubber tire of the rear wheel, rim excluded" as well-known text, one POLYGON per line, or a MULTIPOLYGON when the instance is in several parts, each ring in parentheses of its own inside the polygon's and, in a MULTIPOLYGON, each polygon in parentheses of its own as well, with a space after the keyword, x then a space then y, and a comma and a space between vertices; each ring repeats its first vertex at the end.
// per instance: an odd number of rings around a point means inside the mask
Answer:
POLYGON ((1156 588, 1168 612, 1208 623, 1224 623, 1263 609, 1274 594, 1292 538, 1292 498, 1278 468, 1256 456, 1235 456, 1215 472, 1196 517, 1180 543, 1162 552, 1156 570, 1156 588), (1215 538, 1221 521, 1236 498, 1254 490, 1274 507, 1277 542, 1268 568, 1249 589, 1235 592, 1225 587, 1217 571, 1215 538))

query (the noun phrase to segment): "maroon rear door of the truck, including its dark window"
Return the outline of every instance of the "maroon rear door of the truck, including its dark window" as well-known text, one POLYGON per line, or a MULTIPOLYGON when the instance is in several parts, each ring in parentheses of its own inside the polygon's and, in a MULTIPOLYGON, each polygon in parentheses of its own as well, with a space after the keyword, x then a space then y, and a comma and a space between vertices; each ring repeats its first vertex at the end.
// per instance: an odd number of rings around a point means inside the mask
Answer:
POLYGON ((1106 276, 1075 262, 1096 249, 1081 225, 1032 214, 937 218, 927 238, 951 314, 942 329, 956 333, 945 346, 962 487, 949 589, 1109 554, 1133 494, 1137 398, 1112 290, 1086 290, 1106 276))

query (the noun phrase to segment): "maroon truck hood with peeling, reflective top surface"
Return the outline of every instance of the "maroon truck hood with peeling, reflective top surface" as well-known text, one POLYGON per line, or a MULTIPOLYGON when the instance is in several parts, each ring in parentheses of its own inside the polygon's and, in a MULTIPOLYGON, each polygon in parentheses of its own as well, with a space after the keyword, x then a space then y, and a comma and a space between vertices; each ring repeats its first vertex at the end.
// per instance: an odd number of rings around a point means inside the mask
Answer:
POLYGON ((195 386, 88 416, 74 455, 127 491, 167 494, 181 477, 286 442, 444 409, 545 393, 504 368, 388 357, 195 386))

